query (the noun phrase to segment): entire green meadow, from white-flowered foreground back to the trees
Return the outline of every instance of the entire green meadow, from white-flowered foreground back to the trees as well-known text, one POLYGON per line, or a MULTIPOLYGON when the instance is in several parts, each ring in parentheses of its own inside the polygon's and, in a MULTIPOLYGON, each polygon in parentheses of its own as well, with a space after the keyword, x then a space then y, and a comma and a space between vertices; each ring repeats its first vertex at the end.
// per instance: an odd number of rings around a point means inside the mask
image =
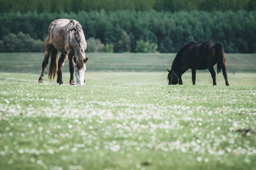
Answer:
POLYGON ((230 87, 167 85, 173 54, 88 55, 76 87, 38 85, 42 53, 0 53, 0 169, 255 169, 256 55, 227 54, 230 87))

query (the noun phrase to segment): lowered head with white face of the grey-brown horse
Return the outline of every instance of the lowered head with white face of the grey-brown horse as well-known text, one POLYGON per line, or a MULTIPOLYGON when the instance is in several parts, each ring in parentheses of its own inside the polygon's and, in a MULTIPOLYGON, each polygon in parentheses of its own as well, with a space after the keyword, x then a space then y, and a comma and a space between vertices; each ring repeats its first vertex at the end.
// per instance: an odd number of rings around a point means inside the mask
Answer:
POLYGON ((86 71, 86 62, 88 58, 85 59, 79 59, 77 60, 76 57, 74 57, 74 68, 75 68, 75 75, 76 75, 76 84, 77 85, 84 85, 84 72, 86 71))

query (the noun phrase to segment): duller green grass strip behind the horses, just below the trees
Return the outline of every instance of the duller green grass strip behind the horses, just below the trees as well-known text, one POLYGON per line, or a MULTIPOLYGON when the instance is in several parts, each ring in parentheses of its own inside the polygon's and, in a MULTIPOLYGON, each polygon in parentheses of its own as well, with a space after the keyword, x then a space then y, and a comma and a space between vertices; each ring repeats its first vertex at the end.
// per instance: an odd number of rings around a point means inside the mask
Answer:
MULTIPOLYGON (((88 71, 166 71, 174 53, 86 53, 88 71)), ((256 54, 226 53, 230 73, 256 72, 256 54)), ((0 53, 0 71, 41 73, 44 53, 0 53)), ((64 71, 68 71, 68 60, 64 71)), ((208 72, 208 71, 207 71, 208 72)))

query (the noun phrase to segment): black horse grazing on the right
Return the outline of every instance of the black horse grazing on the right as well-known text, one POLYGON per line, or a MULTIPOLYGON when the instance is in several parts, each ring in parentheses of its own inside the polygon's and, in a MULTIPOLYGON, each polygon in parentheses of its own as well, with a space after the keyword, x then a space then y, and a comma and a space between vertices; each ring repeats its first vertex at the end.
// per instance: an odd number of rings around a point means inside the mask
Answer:
POLYGON ((226 85, 228 85, 223 46, 214 41, 207 41, 202 44, 190 42, 177 53, 171 71, 167 69, 169 85, 176 85, 177 83, 182 85, 181 76, 188 69, 192 70, 193 85, 196 81, 196 69, 209 69, 213 85, 216 85, 216 73, 213 68, 216 63, 217 73, 220 73, 222 69, 226 85))

